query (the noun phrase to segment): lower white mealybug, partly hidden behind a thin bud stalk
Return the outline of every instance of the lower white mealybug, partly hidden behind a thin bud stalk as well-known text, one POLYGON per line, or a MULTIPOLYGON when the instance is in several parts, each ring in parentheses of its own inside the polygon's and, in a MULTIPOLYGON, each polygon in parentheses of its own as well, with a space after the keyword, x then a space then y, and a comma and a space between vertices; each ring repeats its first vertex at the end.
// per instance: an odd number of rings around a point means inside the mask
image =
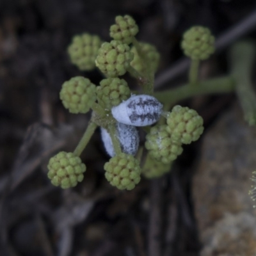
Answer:
MULTIPOLYGON (((102 127, 101 129, 101 138, 104 143, 104 147, 108 152, 109 156, 115 156, 115 150, 113 148, 113 143, 108 131, 102 127)), ((135 126, 125 125, 117 123, 116 125, 116 135, 120 141, 120 147, 122 152, 134 156, 139 147, 139 134, 135 126)))

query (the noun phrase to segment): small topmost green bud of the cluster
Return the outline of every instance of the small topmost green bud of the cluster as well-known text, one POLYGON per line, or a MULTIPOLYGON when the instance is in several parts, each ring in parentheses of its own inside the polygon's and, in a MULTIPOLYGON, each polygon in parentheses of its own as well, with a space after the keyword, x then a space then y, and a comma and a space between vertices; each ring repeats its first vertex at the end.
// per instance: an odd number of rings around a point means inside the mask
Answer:
POLYGON ((132 38, 136 36, 139 28, 134 19, 129 15, 116 16, 116 24, 110 27, 110 36, 114 40, 120 40, 125 44, 131 44, 132 38))

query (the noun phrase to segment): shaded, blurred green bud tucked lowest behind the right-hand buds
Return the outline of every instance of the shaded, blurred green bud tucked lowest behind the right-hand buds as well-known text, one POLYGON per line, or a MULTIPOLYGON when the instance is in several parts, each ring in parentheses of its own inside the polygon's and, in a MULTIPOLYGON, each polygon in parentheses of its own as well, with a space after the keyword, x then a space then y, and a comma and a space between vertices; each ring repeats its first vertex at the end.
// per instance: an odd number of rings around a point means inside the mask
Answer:
POLYGON ((147 179, 159 178, 165 173, 170 172, 171 165, 171 163, 164 164, 161 161, 156 161, 156 159, 152 159, 150 156, 148 156, 141 173, 147 179))

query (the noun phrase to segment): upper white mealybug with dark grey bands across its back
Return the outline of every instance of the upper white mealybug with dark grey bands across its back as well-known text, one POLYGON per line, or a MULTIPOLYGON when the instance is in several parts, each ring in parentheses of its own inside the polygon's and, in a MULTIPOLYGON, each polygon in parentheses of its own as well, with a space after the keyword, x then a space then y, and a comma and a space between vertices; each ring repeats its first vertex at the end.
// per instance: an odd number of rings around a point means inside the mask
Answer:
POLYGON ((132 95, 111 109, 116 121, 134 126, 156 123, 162 113, 163 104, 150 95, 132 95))

